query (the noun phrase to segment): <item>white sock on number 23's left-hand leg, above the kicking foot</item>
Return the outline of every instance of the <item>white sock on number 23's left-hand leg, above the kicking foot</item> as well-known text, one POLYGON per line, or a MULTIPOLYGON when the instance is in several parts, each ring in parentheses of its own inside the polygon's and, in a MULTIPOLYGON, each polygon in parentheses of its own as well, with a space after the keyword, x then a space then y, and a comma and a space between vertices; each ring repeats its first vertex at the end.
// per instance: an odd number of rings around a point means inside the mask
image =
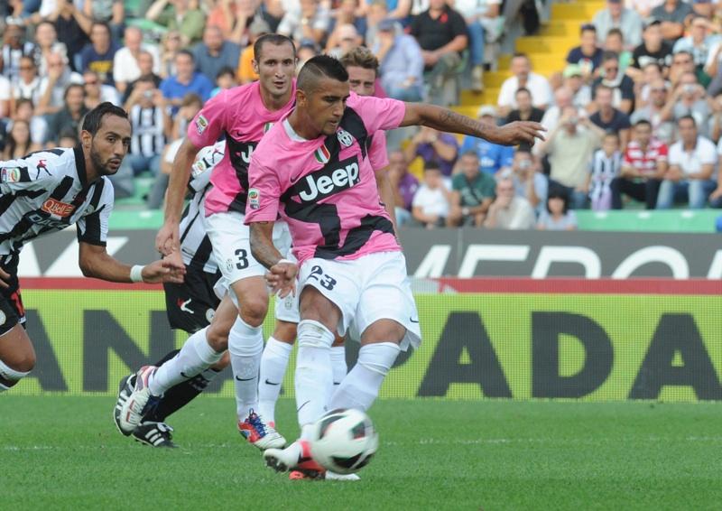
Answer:
POLYGON ((296 408, 299 424, 316 422, 329 403, 333 386, 330 348, 334 335, 319 321, 303 320, 298 328, 296 408))

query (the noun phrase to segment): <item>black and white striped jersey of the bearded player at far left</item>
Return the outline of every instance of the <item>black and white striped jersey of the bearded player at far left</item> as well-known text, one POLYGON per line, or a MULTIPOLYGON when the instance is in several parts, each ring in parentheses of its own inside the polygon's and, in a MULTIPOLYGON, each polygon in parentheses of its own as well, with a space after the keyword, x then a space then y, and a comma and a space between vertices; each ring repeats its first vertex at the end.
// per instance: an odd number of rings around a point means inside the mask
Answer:
POLYGON ((88 183, 83 151, 49 149, 0 162, 0 255, 77 224, 78 240, 106 245, 113 184, 88 183))

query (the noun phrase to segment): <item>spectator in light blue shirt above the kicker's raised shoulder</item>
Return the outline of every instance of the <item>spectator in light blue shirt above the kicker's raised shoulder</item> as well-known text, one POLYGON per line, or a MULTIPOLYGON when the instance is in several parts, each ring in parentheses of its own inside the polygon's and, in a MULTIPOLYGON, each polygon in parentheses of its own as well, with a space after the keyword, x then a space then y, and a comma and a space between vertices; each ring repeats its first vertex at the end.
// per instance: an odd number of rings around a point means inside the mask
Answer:
POLYGON ((381 86, 389 98, 421 101, 424 63, 419 43, 390 18, 378 23, 377 29, 372 50, 381 63, 381 86))

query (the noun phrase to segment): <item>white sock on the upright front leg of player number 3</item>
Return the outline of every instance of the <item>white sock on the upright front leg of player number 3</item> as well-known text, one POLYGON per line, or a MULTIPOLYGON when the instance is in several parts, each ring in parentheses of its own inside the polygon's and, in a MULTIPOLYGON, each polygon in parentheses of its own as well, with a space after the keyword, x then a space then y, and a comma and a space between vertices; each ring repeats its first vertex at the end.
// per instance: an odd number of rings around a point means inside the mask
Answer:
POLYGON ((228 353, 236 386, 236 413, 243 421, 249 410, 258 407, 258 369, 264 352, 264 335, 261 327, 252 327, 240 316, 236 317, 228 334, 228 353))

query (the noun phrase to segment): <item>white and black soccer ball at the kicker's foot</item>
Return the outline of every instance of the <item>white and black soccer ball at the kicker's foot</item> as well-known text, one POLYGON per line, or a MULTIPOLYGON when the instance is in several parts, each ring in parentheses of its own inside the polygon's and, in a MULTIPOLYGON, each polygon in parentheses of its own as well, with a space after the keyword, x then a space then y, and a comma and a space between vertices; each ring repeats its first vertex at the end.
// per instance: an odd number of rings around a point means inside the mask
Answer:
POLYGON ((326 413, 315 424, 310 453, 327 470, 351 474, 365 467, 378 448, 374 423, 360 410, 326 413))

